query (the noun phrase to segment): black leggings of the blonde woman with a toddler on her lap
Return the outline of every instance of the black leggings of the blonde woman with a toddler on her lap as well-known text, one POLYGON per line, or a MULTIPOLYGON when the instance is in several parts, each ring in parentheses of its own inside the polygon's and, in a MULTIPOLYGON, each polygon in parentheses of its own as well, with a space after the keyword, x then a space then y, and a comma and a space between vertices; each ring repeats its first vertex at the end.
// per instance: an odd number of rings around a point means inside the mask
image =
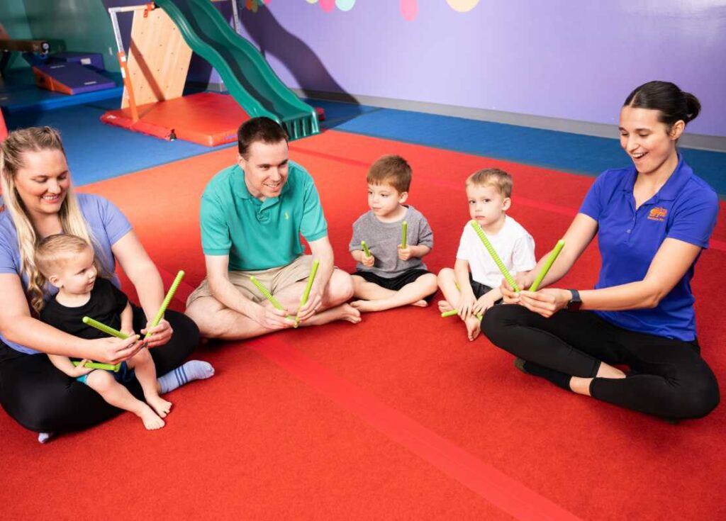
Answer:
MULTIPOLYGON (((181 365, 199 342, 197 324, 189 317, 167 311, 164 318, 174 329, 165 345, 152 348, 156 374, 166 374, 181 365)), ((146 317, 134 307, 134 331, 146 327, 146 317)), ((143 392, 135 378, 128 384, 136 398, 143 392)), ((37 432, 81 430, 105 422, 116 409, 88 385, 66 376, 45 354, 20 353, 0 342, 0 404, 15 421, 37 432)))

